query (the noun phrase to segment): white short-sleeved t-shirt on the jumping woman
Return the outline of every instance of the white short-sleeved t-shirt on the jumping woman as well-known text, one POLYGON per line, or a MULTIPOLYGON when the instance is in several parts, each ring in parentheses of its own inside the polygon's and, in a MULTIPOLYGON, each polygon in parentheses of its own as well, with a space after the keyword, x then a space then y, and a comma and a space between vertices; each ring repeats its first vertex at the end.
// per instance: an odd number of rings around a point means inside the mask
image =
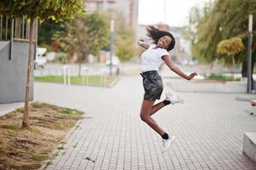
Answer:
POLYGON ((155 48, 156 44, 152 43, 150 47, 141 54, 142 71, 158 71, 158 68, 164 62, 163 55, 168 55, 168 51, 164 48, 155 48))

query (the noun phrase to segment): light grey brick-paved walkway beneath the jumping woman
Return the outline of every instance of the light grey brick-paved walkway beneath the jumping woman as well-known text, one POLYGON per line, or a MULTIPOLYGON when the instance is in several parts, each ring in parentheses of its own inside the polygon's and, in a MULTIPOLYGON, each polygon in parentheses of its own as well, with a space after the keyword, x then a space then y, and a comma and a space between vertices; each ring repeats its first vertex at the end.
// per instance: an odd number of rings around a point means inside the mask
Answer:
POLYGON ((139 119, 139 76, 122 77, 113 88, 36 82, 36 100, 87 114, 48 169, 256 169, 242 154, 243 133, 256 131, 256 116, 243 111, 247 102, 237 101, 237 94, 179 95, 185 105, 169 105, 154 116, 177 137, 162 154, 162 139, 139 119))

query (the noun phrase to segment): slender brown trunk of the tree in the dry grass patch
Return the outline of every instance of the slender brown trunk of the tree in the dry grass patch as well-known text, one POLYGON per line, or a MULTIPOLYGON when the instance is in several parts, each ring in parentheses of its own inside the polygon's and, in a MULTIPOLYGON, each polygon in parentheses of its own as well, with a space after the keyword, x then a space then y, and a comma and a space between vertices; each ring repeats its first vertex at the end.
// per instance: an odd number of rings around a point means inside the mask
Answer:
POLYGON ((29 49, 28 49, 28 59, 27 59, 27 74, 26 74, 26 97, 25 106, 23 114, 22 127, 29 126, 29 100, 30 100, 30 90, 31 90, 31 55, 33 47, 33 34, 34 34, 34 19, 31 18, 30 31, 29 31, 29 49))

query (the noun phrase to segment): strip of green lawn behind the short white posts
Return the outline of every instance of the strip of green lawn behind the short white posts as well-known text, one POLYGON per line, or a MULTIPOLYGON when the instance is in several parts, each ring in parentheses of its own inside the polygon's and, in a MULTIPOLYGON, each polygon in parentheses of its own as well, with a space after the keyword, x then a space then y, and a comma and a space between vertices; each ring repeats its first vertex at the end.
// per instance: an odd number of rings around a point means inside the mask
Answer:
MULTIPOLYGON (((105 86, 111 84, 111 82, 115 81, 116 77, 105 77, 105 86)), ((44 76, 44 77, 34 77, 35 82, 57 82, 63 83, 64 79, 62 76, 44 76)), ((102 80, 103 81, 103 80, 102 80)), ((86 77, 85 77, 85 84, 86 84, 86 77)), ((88 77, 88 85, 90 86, 102 86, 101 84, 101 77, 100 76, 89 76, 88 77)), ((82 85, 82 77, 71 77, 71 84, 82 85)))

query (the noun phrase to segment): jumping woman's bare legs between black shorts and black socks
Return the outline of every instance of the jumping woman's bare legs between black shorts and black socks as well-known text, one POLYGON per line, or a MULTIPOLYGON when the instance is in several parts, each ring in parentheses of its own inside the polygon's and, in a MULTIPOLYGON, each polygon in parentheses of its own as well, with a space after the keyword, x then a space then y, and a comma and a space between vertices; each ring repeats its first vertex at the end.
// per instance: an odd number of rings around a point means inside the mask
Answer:
MULTIPOLYGON (((151 112, 153 109, 152 106, 154 105, 154 102, 155 101, 150 101, 150 100, 145 100, 145 99, 143 100, 142 105, 141 105, 141 110, 140 110, 140 118, 142 121, 146 122, 151 128, 153 128, 156 131, 156 133, 158 133, 162 136, 164 134, 164 131, 162 130, 161 127, 159 127, 157 125, 156 121, 151 117, 151 112)), ((158 108, 161 109, 162 105, 156 104, 154 111, 156 112, 156 110, 158 108)))

